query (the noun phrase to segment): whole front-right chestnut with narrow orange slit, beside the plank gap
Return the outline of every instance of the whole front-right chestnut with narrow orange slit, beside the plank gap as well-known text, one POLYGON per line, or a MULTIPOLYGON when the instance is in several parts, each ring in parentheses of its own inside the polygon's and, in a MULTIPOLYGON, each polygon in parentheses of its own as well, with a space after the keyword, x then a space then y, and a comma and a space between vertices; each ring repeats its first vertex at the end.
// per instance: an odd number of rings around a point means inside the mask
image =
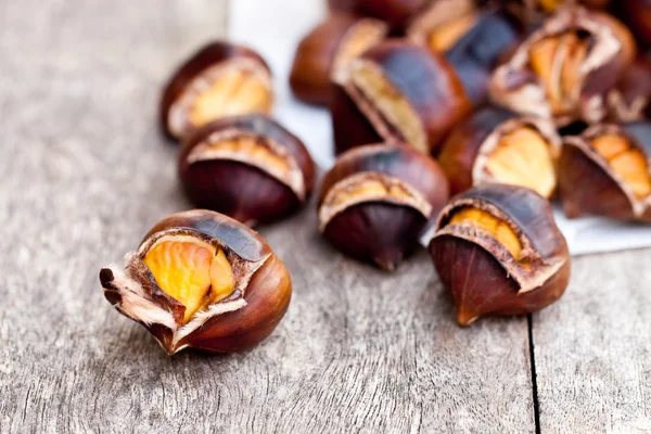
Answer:
POLYGON ((570 253, 551 206, 523 187, 486 183, 451 199, 430 253, 461 326, 538 311, 570 280, 570 253))

